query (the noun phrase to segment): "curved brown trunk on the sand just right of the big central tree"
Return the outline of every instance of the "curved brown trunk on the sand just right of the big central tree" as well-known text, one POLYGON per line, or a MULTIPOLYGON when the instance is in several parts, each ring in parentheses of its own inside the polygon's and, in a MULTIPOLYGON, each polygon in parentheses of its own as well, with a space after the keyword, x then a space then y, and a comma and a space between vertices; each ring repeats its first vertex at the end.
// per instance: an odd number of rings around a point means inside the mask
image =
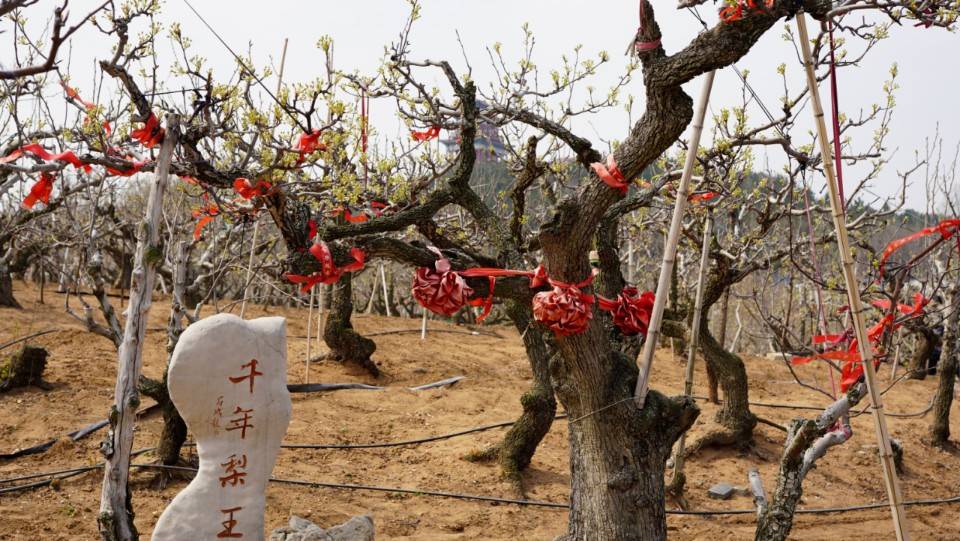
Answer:
POLYGON ((706 319, 700 324, 700 348, 707 366, 713 368, 717 382, 723 389, 723 405, 717 412, 716 421, 724 430, 706 434, 697 441, 690 452, 711 445, 746 446, 753 439, 756 416, 750 411, 747 370, 743 359, 725 350, 710 333, 706 319))

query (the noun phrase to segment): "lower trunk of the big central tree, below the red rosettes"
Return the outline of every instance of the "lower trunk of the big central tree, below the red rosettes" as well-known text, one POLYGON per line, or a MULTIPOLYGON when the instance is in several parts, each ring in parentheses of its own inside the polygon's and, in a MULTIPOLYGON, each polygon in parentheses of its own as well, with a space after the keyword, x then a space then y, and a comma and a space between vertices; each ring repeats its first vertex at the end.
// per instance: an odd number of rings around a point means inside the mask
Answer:
POLYGON ((666 539, 664 468, 699 410, 691 399, 652 390, 638 410, 637 369, 625 355, 561 349, 563 357, 552 366, 557 396, 570 416, 572 500, 569 530, 561 539, 666 539), (582 373, 588 364, 593 369, 582 373), (577 372, 589 376, 588 385, 574 383, 577 372))

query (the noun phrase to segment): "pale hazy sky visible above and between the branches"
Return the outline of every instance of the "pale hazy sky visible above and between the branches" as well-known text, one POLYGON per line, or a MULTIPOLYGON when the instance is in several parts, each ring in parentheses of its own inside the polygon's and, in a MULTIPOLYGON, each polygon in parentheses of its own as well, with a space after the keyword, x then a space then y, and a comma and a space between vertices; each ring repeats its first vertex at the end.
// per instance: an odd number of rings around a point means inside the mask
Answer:
MULTIPOLYGON (((82 8, 94 3, 90 0, 74 1, 71 9, 79 14, 82 8)), ((601 50, 610 53, 611 66, 592 83, 598 89, 609 87, 627 62, 622 53, 637 24, 637 4, 633 0, 424 0, 422 3, 423 17, 414 27, 411 38, 413 58, 448 59, 458 69, 463 68, 456 40, 456 32, 459 32, 473 66, 474 79, 481 87, 493 77, 485 46, 501 42, 504 56, 518 59, 523 36, 521 25, 525 22, 536 35, 534 60, 542 73, 548 74, 550 69, 560 65, 562 54, 571 52, 577 44, 583 44, 586 55, 595 55, 601 50)), ((323 59, 315 44, 324 34, 335 40, 338 68, 373 73, 383 56, 384 45, 396 38, 408 14, 404 0, 193 0, 193 5, 234 49, 252 47, 258 65, 271 59, 278 62, 283 40, 289 38, 284 77, 288 82, 309 80, 322 73, 323 59)), ((676 10, 673 0, 653 0, 653 5, 668 54, 676 52, 696 35, 699 23, 686 11, 676 10)), ((703 8, 704 18, 714 24, 717 16, 713 4, 705 4, 703 8)), ((184 34, 195 44, 194 52, 207 58, 220 79, 225 79, 233 71, 230 53, 215 40, 183 0, 168 0, 160 21, 164 25, 179 21, 184 34)), ((811 32, 814 32, 817 23, 811 22, 811 32)), ((783 40, 782 34, 783 23, 778 23, 738 64, 741 69, 750 71, 751 83, 774 112, 779 110, 783 93, 783 83, 775 73, 777 65, 787 64, 792 88, 799 89, 803 84, 802 66, 793 46, 783 40)), ((897 183, 896 170, 913 164, 914 151, 923 147, 924 138, 932 135, 938 124, 949 146, 960 141, 960 113, 956 104, 957 88, 960 87, 960 36, 942 29, 913 26, 894 27, 891 34, 867 55, 861 66, 840 72, 841 109, 850 116, 857 116, 861 109, 882 100, 881 85, 889 77, 891 65, 899 65, 898 107, 892 123, 892 136, 888 140, 888 150, 895 150, 896 155, 881 180, 874 184, 876 192, 881 194, 890 193, 897 183)), ((91 62, 92 58, 103 58, 109 53, 110 45, 99 33, 85 29, 73 40, 72 61, 91 62)), ((169 58, 169 48, 162 46, 160 49, 160 53, 169 58)), ((436 82, 437 86, 444 86, 439 78, 436 82)), ((700 80, 695 80, 687 91, 696 96, 699 85, 700 80)), ((732 71, 718 73, 714 88, 712 110, 740 101, 741 85, 732 71)), ((628 91, 642 96, 639 82, 628 91)), ((827 91, 826 87, 822 90, 824 99, 828 99, 827 91)), ((642 100, 635 108, 634 118, 640 107, 642 100)), ((752 109, 751 114, 756 121, 761 120, 759 109, 752 109)), ((803 118, 804 125, 809 127, 809 109, 804 110, 802 116, 806 117, 803 118)), ((599 143, 601 137, 621 139, 627 130, 626 118, 623 109, 618 108, 578 120, 574 127, 599 143)), ((372 122, 384 136, 405 135, 393 115, 392 105, 385 100, 372 104, 372 122)), ((868 139, 871 133, 861 130, 853 135, 868 139)), ((866 142, 857 147, 862 149, 865 145, 866 142)), ((761 155, 761 160, 767 159, 776 167, 783 163, 782 154, 774 149, 768 156, 761 155)), ((855 173, 848 175, 854 177, 855 173)), ((924 204, 922 186, 918 181, 919 177, 914 189, 908 190, 908 204, 912 207, 924 204)), ((815 182, 821 181, 815 179, 815 182)))

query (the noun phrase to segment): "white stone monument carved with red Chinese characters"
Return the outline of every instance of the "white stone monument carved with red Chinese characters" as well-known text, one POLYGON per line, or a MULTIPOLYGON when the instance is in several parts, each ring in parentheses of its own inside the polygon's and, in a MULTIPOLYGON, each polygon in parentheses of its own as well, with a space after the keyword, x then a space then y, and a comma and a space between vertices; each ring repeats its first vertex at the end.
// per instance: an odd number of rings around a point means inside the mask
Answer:
POLYGON ((219 314, 190 325, 168 387, 200 468, 160 516, 153 541, 263 540, 264 493, 290 422, 286 321, 219 314))

